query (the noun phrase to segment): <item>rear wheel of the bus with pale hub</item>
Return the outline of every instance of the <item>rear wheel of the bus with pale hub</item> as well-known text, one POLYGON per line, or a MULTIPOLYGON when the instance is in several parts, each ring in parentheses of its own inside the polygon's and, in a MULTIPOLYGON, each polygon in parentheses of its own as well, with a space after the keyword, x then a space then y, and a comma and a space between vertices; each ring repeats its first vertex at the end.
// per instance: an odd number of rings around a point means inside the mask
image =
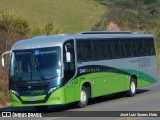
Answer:
POLYGON ((127 96, 133 97, 135 94, 136 94, 136 80, 134 78, 131 78, 129 91, 127 91, 127 96))

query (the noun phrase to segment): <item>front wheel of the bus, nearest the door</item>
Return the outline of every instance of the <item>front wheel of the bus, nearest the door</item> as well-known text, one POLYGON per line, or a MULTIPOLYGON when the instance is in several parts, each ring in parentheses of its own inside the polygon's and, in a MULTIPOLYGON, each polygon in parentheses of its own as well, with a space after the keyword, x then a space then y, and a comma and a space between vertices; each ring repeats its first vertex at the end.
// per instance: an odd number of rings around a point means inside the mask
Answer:
POLYGON ((80 101, 77 104, 77 107, 83 108, 88 104, 88 91, 86 87, 82 87, 80 101))

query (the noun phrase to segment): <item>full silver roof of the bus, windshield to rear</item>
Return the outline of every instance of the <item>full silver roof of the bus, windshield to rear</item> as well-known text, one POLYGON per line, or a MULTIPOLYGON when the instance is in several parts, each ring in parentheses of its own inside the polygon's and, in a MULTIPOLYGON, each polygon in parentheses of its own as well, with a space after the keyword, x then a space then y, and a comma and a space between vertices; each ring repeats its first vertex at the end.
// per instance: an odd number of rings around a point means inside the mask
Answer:
POLYGON ((66 40, 69 39, 94 39, 94 38, 144 38, 153 37, 151 34, 138 34, 128 31, 92 31, 92 32, 81 32, 75 35, 70 34, 57 34, 49 36, 37 36, 29 38, 26 40, 21 40, 15 43, 12 50, 23 50, 23 49, 33 49, 33 48, 43 48, 52 46, 61 46, 66 40))

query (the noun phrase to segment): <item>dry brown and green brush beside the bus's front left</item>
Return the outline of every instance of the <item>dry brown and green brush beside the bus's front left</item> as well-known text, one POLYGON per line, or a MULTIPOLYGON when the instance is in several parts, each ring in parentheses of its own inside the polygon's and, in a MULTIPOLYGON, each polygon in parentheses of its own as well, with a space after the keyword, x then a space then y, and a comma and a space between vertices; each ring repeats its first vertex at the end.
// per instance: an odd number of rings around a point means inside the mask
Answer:
MULTIPOLYGON (((37 35, 51 35, 61 33, 61 28, 55 22, 49 24, 28 24, 27 19, 14 12, 0 13, 0 54, 11 49, 12 45, 27 37, 37 35)), ((6 67, 0 67, 0 104, 5 105, 10 101, 8 95, 8 66, 9 58, 6 57, 6 67)), ((1 65, 0 65, 1 66, 1 65)))

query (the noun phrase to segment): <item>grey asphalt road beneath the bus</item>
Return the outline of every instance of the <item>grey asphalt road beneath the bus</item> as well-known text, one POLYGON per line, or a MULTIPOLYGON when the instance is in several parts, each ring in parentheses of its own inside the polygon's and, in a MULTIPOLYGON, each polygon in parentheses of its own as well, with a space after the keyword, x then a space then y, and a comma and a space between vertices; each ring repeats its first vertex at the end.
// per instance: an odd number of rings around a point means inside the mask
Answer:
MULTIPOLYGON (((3 108, 0 111, 18 111, 18 112, 37 112, 34 107, 23 108, 3 108)), ((37 118, 37 120, 77 120, 89 119, 89 120, 160 120, 160 117, 85 117, 86 114, 90 116, 101 116, 101 114, 107 115, 111 111, 159 111, 160 112, 160 81, 157 83, 137 90, 137 94, 134 97, 125 97, 123 94, 114 94, 104 97, 94 98, 89 102, 86 108, 75 108, 74 105, 68 105, 64 107, 49 107, 48 111, 43 114, 43 117, 37 118), (83 112, 80 112, 83 111, 83 112), (85 112, 84 112, 85 111, 85 112), (88 112, 89 111, 89 112, 88 112), (95 112, 98 111, 98 112, 95 112), (103 112, 101 112, 103 111, 103 112), (106 111, 106 112, 104 112, 106 111), (68 117, 68 116, 75 117, 68 117), (51 117, 53 116, 53 117, 51 117), (78 116, 78 117, 77 117, 78 116), (85 117, 85 118, 84 118, 85 117)), ((114 112, 113 112, 114 113, 114 112)), ((8 119, 8 118, 0 118, 8 119)), ((12 119, 12 118, 10 118, 12 119)), ((18 118, 21 119, 21 118, 18 118)), ((18 120, 15 118, 15 120, 18 120)), ((35 118, 33 118, 35 119, 35 118)))

